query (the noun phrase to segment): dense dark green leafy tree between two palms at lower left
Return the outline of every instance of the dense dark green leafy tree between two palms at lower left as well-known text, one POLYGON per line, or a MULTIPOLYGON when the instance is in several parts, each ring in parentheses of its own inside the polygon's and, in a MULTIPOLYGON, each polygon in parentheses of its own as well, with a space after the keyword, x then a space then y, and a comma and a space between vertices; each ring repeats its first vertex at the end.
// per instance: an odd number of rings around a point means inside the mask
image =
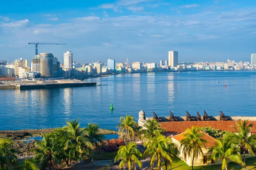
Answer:
POLYGON ((76 154, 76 147, 70 145, 69 148, 65 150, 65 143, 68 141, 67 136, 65 135, 66 131, 63 128, 57 128, 53 132, 49 133, 53 138, 53 147, 60 149, 62 152, 57 153, 56 157, 58 160, 61 160, 69 166, 70 161, 78 161, 79 157, 76 154))

